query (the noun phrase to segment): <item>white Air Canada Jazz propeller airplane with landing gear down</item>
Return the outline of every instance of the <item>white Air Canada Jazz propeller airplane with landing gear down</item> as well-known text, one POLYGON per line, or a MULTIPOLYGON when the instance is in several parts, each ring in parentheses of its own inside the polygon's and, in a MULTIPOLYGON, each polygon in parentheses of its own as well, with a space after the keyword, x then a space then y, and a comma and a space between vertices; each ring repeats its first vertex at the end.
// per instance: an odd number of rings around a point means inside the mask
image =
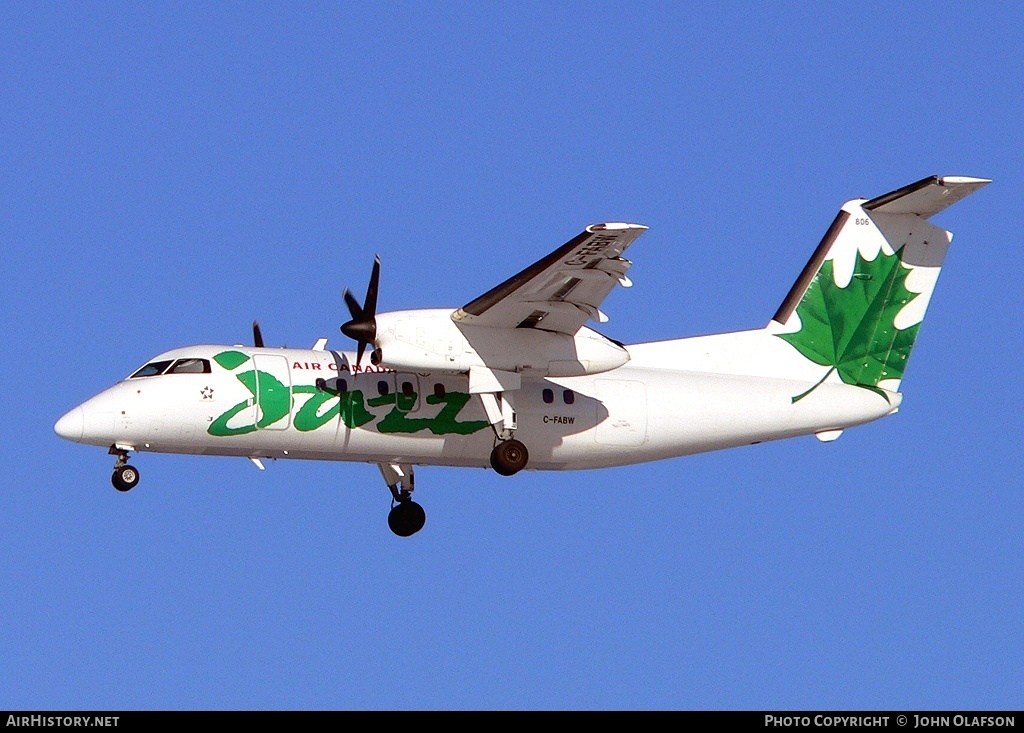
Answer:
POLYGON ((341 333, 356 348, 201 345, 155 356, 54 425, 130 452, 376 464, 399 536, 424 526, 416 466, 568 471, 800 435, 833 441, 895 413, 952 234, 928 221, 990 181, 930 176, 847 202, 759 329, 626 345, 585 324, 646 226, 580 234, 460 308, 377 312, 380 259, 341 333), (369 363, 364 358, 369 353, 369 363))

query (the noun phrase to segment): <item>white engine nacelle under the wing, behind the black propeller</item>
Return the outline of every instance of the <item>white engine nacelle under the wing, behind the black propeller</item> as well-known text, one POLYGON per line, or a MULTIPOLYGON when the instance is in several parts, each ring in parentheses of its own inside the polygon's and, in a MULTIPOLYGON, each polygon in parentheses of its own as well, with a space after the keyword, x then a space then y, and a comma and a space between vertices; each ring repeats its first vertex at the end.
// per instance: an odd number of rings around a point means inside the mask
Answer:
POLYGON ((452 311, 377 315, 381 364, 400 372, 468 372, 485 366, 539 377, 580 377, 622 366, 629 352, 596 331, 575 336, 540 329, 457 326, 452 311))

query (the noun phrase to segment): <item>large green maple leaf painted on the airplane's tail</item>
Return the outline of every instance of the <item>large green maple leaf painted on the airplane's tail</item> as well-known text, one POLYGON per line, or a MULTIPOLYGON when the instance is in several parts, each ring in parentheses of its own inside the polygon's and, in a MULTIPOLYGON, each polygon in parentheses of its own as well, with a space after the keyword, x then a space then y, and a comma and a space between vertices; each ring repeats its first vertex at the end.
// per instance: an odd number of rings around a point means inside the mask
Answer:
POLYGON ((821 264, 797 306, 800 331, 777 334, 814 363, 829 368, 811 389, 794 397, 794 402, 810 394, 833 372, 846 384, 884 397, 879 382, 903 377, 921 329, 921 324, 902 330, 894 324, 897 313, 921 295, 906 289, 909 272, 898 252, 880 252, 873 260, 865 260, 857 252, 853 277, 846 288, 840 288, 831 260, 821 264))

